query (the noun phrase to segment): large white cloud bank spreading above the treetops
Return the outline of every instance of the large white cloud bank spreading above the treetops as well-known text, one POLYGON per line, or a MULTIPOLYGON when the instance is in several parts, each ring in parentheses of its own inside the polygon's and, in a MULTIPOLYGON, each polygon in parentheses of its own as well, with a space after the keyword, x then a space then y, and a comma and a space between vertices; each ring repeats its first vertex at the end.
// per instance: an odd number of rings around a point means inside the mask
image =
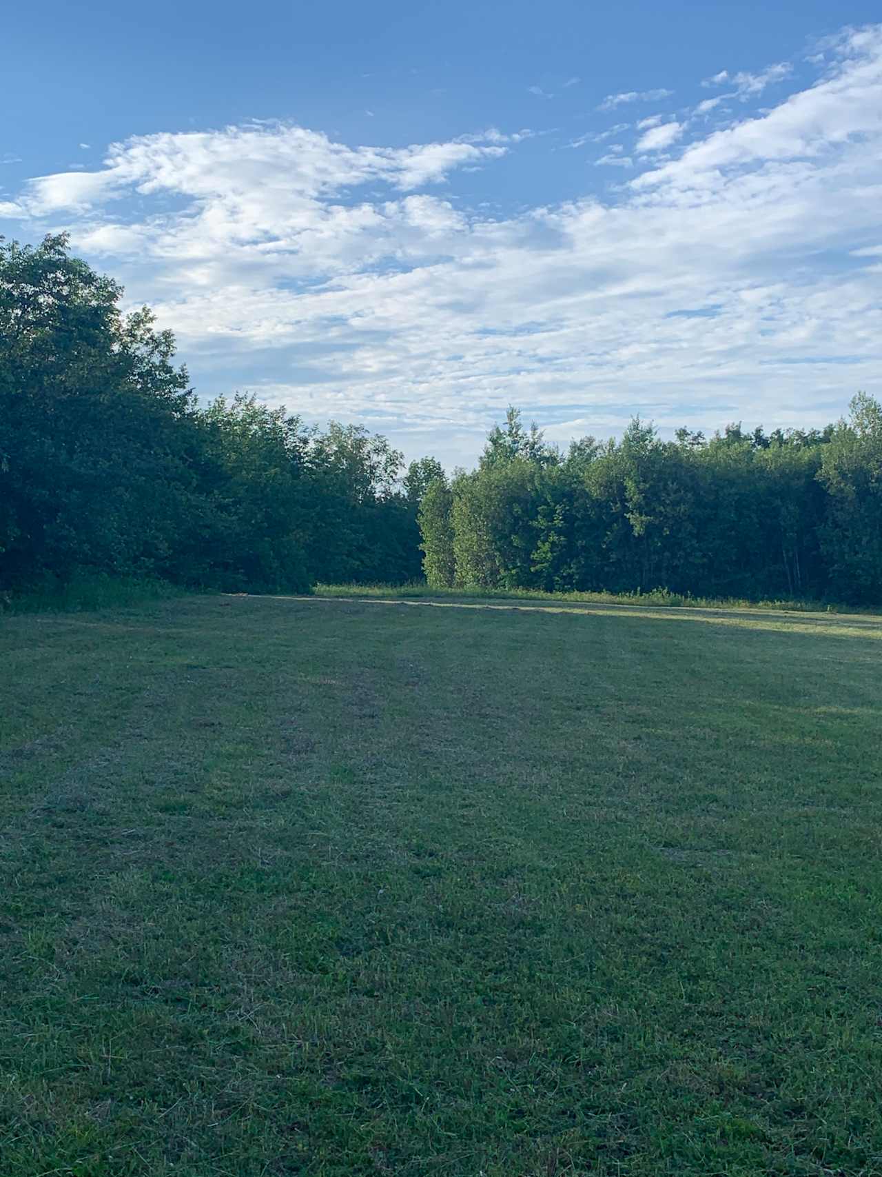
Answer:
MULTIPOLYGON (((831 52, 820 82, 609 201, 469 208, 456 174, 516 152, 502 131, 401 148, 265 125, 133 138, 0 217, 68 227, 178 332, 202 392, 367 417, 410 454, 470 459, 509 401, 561 438, 635 411, 822 424, 878 390, 882 335, 882 28, 831 52)), ((617 134, 592 133, 613 140, 597 164, 636 169, 617 134)))

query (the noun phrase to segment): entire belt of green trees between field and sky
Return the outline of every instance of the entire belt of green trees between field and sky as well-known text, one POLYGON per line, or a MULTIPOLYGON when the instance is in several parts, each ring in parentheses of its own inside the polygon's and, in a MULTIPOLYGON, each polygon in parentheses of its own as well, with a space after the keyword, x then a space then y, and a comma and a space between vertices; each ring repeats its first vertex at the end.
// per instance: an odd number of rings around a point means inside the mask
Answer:
POLYGON ((359 426, 201 406, 149 311, 65 237, 0 245, 0 591, 89 573, 226 591, 316 581, 882 604, 882 406, 567 452, 516 410, 447 478, 359 426))

